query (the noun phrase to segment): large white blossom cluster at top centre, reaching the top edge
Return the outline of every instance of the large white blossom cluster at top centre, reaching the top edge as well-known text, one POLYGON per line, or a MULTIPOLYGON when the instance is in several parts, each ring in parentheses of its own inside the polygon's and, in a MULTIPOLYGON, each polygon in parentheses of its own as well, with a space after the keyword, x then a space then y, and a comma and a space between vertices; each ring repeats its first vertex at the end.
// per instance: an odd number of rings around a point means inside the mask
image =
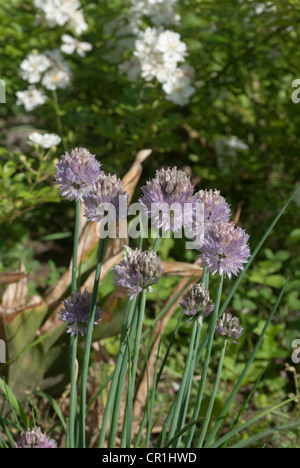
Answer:
POLYGON ((119 71, 126 73, 130 81, 139 76, 146 81, 157 79, 168 101, 180 106, 188 104, 195 88, 194 69, 184 64, 187 46, 179 33, 162 26, 178 23, 179 16, 174 10, 177 0, 131 0, 131 3, 129 17, 135 18, 135 24, 147 16, 155 26, 135 32, 133 58, 122 63, 119 71))

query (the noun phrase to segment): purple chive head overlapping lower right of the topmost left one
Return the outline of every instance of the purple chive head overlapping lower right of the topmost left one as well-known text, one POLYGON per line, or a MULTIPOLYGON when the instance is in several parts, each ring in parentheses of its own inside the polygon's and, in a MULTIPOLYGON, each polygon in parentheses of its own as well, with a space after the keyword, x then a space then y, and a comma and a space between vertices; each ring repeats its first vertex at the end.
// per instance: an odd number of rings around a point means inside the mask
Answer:
POLYGON ((120 197, 126 198, 128 195, 124 191, 123 182, 114 174, 102 172, 94 183, 93 190, 84 198, 85 216, 89 221, 101 221, 109 211, 109 205, 115 209, 116 219, 120 218, 120 197))

